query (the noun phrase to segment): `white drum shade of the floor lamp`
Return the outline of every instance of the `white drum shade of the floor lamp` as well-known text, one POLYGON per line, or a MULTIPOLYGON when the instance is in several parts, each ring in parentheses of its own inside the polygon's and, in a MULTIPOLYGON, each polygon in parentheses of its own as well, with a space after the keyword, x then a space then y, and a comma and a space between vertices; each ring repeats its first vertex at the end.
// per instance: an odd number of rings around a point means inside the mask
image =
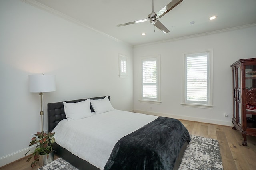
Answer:
POLYGON ((28 75, 29 91, 34 93, 56 90, 55 75, 28 75))

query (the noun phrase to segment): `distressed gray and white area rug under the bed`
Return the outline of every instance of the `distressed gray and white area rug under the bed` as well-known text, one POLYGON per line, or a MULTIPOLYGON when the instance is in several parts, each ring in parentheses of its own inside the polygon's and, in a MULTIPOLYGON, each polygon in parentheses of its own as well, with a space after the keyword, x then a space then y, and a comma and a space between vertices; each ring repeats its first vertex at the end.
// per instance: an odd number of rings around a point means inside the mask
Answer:
MULTIPOLYGON (((215 139, 190 135, 179 170, 223 170, 219 142, 215 139)), ((78 170, 58 158, 38 170, 78 170)))

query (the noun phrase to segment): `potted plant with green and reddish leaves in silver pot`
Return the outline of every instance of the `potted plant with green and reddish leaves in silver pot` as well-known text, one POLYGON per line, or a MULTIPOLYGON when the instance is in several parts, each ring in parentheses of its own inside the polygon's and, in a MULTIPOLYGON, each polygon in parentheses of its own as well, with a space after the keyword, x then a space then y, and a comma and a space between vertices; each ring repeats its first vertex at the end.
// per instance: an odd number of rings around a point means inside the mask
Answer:
MULTIPOLYGON (((53 160, 53 148, 52 148, 52 144, 55 142, 54 139, 54 134, 55 133, 51 133, 49 132, 48 134, 46 133, 42 133, 42 132, 37 132, 37 134, 35 134, 35 136, 37 137, 33 137, 31 139, 31 142, 29 144, 29 146, 32 146, 34 144, 36 144, 36 149, 34 152, 30 152, 33 153, 32 155, 34 155, 34 162, 31 163, 31 167, 33 168, 34 166, 36 166, 37 162, 39 162, 39 158, 40 156, 46 156, 46 159, 48 160, 53 160), (50 156, 50 158, 49 158, 50 156), (52 158, 51 158, 52 156, 52 158)), ((28 154, 28 152, 26 154, 28 154)), ((25 155, 26 155, 25 154, 25 155)), ((30 159, 32 158, 32 156, 30 156, 27 160, 27 162, 30 161, 30 159)), ((39 164, 40 165, 40 164, 39 164)), ((44 164, 42 164, 43 166, 44 164)))

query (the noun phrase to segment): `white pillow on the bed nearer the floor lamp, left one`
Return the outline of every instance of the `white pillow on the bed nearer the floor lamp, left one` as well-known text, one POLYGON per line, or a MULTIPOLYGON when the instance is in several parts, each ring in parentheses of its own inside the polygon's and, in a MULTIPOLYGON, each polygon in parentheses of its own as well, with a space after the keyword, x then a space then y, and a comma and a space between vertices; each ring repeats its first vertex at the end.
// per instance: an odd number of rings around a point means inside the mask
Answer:
POLYGON ((63 102, 68 121, 82 119, 93 115, 90 109, 90 99, 76 103, 63 102))

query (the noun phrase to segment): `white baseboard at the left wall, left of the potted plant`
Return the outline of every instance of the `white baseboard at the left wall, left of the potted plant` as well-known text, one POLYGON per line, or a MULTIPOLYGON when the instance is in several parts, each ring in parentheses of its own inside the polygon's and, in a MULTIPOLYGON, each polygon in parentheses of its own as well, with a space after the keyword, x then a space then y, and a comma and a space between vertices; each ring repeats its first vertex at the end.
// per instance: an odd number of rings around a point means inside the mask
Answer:
MULTIPOLYGON (((28 152, 28 150, 33 152, 35 150, 35 148, 36 148, 36 146, 30 146, 28 148, 24 148, 22 150, 12 153, 12 154, 8 154, 6 156, 1 157, 0 158, 0 168, 4 165, 10 164, 20 158, 25 157, 25 154, 28 152)), ((30 153, 28 153, 27 155, 29 155, 29 154, 30 153)))

